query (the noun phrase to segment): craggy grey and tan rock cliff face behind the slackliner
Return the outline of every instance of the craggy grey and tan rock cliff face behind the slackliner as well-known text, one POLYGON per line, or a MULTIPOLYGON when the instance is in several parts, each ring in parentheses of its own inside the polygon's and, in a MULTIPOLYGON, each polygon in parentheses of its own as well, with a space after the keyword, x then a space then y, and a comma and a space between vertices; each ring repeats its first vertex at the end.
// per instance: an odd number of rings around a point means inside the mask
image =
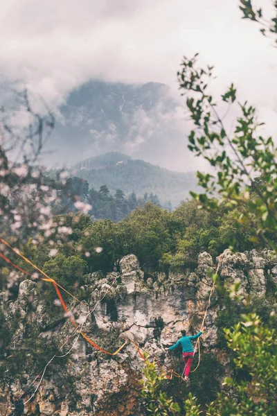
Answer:
MULTIPOLYGON (((82 302, 71 304, 69 309, 75 319, 82 320, 110 286, 105 299, 84 322, 84 333, 110 352, 118 349, 125 335, 173 365, 164 348, 176 342, 181 329, 199 329, 217 261, 204 252, 199 254, 195 270, 150 276, 130 254, 121 259, 120 272, 87 275, 79 292, 82 302), (116 284, 111 286, 115 277, 116 284)), ((269 288, 276 289, 277 259, 266 250, 235 254, 225 250, 220 260, 220 279, 230 286, 239 282, 242 299, 249 294, 263 298, 269 288)), ((202 347, 204 354, 216 354, 228 372, 228 354, 218 349, 216 298, 215 294, 208 310, 202 347)), ((0 413, 5 415, 10 392, 16 396, 27 391, 24 400, 30 398, 39 378, 29 388, 30 383, 74 327, 53 293, 46 296, 45 284, 39 281, 21 281, 14 299, 4 292, 0 299, 1 323, 6 331, 1 345, 0 413)), ((46 368, 41 385, 26 405, 26 415, 143 415, 139 399, 143 361, 134 345, 128 343, 118 355, 107 356, 82 337, 76 341, 77 335, 75 332, 57 355, 66 354, 72 347, 71 353, 54 358, 46 368)))

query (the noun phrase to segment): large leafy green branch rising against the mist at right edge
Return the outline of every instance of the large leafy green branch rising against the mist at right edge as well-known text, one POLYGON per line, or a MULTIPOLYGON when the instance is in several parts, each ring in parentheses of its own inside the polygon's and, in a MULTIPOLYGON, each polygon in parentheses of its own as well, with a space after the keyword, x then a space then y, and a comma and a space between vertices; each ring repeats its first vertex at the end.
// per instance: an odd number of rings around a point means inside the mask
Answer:
MULTIPOLYGON (((277 151, 271 137, 260 135, 260 123, 251 105, 239 104, 241 115, 233 135, 227 135, 223 119, 216 110, 217 103, 208 93, 213 78, 213 68, 197 67, 197 55, 184 58, 178 73, 181 89, 188 94, 187 106, 195 130, 190 133, 188 146, 197 156, 202 156, 213 166, 216 175, 197 172, 204 193, 192 193, 200 205, 218 211, 222 201, 227 207, 237 207, 233 216, 238 223, 256 229, 258 237, 272 249, 277 236, 277 151), (264 186, 257 186, 252 172, 261 175, 264 186), (249 188, 250 187, 250 188, 249 188), (253 191, 251 196, 249 190, 253 191), (220 194, 221 200, 209 197, 220 194)), ((233 85, 222 95, 225 105, 235 105, 233 85)), ((238 234, 238 233, 236 233, 238 234)), ((235 240, 238 235, 235 235, 235 240)))

